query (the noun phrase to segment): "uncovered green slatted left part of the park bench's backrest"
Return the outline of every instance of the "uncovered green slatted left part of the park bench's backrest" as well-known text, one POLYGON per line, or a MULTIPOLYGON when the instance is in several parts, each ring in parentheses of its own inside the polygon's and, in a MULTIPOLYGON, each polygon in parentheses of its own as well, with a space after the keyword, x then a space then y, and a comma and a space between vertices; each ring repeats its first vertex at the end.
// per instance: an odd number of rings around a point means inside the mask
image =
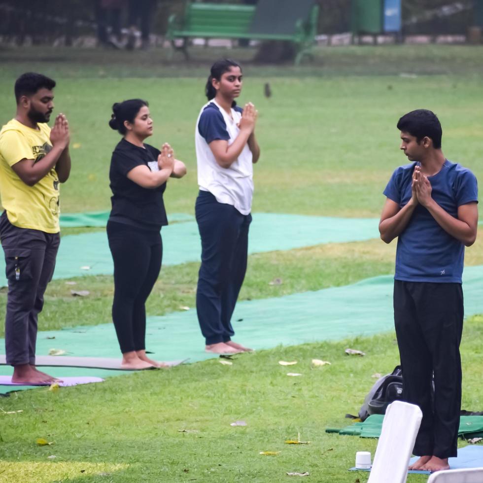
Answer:
POLYGON ((208 34, 244 34, 254 13, 254 5, 188 2, 184 29, 208 34))

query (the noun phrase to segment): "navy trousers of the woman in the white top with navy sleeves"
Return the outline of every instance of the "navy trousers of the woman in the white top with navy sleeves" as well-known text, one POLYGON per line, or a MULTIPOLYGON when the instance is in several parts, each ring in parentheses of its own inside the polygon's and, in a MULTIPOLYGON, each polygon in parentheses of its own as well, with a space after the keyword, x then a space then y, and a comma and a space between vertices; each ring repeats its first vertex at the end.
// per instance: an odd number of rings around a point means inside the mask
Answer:
POLYGON ((218 203, 208 191, 200 191, 195 212, 202 248, 198 321, 207 345, 228 342, 235 334, 231 318, 246 272, 251 215, 218 203))

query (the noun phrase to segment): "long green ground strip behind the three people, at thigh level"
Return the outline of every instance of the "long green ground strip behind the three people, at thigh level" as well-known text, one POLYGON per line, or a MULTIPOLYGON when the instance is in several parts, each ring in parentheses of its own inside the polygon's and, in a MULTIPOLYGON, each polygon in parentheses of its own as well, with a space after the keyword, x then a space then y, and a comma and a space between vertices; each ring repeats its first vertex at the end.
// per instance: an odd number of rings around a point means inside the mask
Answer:
MULTIPOLYGON (((276 213, 253 214, 249 252, 290 250, 319 243, 369 240, 379 236, 379 220, 331 218, 276 213)), ((201 256, 198 226, 194 221, 163 227, 163 265, 197 262, 201 256)), ((111 275, 113 265, 105 232, 62 238, 54 278, 111 275)), ((0 286, 5 286, 5 261, 0 255, 0 286)))

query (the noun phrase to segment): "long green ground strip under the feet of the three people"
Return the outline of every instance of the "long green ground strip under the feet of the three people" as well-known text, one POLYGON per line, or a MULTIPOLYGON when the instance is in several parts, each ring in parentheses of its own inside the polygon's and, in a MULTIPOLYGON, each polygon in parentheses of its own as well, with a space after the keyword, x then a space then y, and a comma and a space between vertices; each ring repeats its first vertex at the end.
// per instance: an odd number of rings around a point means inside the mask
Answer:
MULTIPOLYGON (((463 287, 465 314, 483 313, 483 266, 465 269, 463 287)), ((389 332, 394 328, 392 290, 393 277, 378 276, 317 292, 243 301, 232 318, 236 340, 267 349, 389 332)), ((3 344, 0 340, 0 347, 3 344)), ((189 358, 196 362, 213 357, 204 351, 195 309, 148 317, 146 345, 159 360, 189 358)), ((70 356, 120 356, 111 323, 39 332, 37 354, 47 355, 51 348, 64 349, 70 356)), ((74 374, 69 371, 66 375, 105 377, 105 373, 88 369, 72 371, 74 374)), ((11 368, 1 366, 0 374, 11 374, 11 368)), ((62 376, 59 372, 55 375, 62 376)))

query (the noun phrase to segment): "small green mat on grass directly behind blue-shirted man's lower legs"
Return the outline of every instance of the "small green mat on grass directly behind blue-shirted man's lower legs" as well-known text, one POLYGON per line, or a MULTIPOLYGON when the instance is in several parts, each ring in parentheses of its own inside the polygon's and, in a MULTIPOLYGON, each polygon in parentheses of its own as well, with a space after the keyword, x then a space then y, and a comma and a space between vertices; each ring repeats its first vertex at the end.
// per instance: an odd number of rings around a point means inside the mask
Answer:
MULTIPOLYGON (((356 422, 344 428, 326 428, 326 433, 338 433, 361 438, 379 438, 384 415, 373 414, 364 422, 356 422)), ((458 436, 463 438, 481 438, 483 435, 483 416, 460 416, 458 436)))

